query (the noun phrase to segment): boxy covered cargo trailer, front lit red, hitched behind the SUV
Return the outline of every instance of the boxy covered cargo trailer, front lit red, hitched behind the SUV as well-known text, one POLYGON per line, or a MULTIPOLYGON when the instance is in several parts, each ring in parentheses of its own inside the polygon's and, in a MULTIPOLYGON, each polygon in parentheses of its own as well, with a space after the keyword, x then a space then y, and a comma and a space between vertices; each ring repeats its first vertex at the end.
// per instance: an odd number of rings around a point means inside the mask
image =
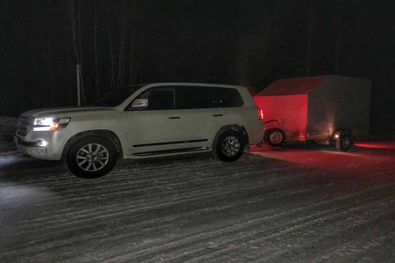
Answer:
POLYGON ((264 141, 335 143, 348 150, 368 135, 371 81, 339 75, 279 79, 254 96, 266 124, 264 141))

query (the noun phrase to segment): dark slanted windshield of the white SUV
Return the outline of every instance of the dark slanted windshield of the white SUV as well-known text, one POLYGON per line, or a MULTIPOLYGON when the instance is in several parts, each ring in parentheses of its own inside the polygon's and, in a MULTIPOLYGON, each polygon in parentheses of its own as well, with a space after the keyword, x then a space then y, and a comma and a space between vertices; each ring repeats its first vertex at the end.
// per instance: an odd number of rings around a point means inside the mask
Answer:
POLYGON ((131 85, 110 90, 109 92, 101 96, 97 101, 92 103, 92 105, 103 107, 116 107, 142 86, 144 85, 131 85))

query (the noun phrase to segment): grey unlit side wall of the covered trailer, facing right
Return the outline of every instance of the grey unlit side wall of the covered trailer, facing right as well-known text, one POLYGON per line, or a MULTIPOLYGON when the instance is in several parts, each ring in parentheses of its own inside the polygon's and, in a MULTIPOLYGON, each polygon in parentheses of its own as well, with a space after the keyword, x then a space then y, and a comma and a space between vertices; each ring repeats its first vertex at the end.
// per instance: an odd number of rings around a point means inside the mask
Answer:
POLYGON ((369 130, 371 82, 330 76, 308 95, 307 133, 347 128, 359 136, 369 130))

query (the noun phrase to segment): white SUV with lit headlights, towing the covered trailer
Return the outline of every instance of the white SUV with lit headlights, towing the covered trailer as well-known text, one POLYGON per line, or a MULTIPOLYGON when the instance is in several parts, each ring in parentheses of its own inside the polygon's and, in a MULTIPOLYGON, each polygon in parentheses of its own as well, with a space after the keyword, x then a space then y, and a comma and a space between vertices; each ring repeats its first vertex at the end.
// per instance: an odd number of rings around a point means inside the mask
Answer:
POLYGON ((23 113, 14 139, 26 154, 95 178, 129 158, 212 151, 232 162, 263 136, 245 87, 155 83, 111 90, 88 107, 23 113))

